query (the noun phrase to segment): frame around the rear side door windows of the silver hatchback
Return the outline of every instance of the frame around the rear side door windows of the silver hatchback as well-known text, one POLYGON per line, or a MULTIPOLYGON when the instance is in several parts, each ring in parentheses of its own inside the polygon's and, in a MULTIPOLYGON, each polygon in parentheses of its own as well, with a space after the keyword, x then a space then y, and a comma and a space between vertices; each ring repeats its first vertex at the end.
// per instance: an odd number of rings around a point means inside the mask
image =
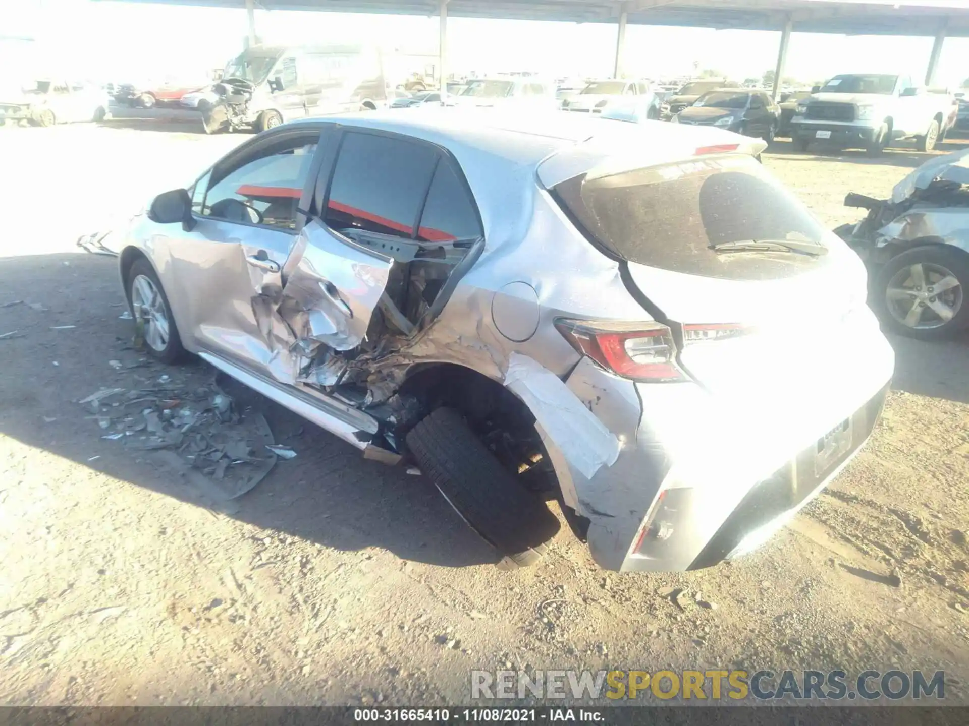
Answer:
POLYGON ((471 207, 477 217, 478 227, 482 230, 481 238, 485 238, 485 222, 482 218, 481 208, 478 205, 478 199, 475 197, 474 192, 471 190, 471 185, 468 184, 467 177, 464 174, 464 169, 458 164, 457 160, 454 158, 453 154, 449 149, 440 144, 436 144, 433 141, 428 141, 425 138, 420 138, 418 136, 410 136, 407 134, 397 134, 395 132, 385 131, 383 129, 375 129, 368 126, 351 126, 351 125, 341 125, 341 124, 331 124, 333 127, 333 133, 328 136, 327 144, 328 148, 324 150, 323 156, 321 158, 321 166, 318 171, 318 178, 316 183, 316 189, 313 195, 312 203, 312 213, 311 217, 318 222, 322 227, 328 230, 330 234, 335 236, 338 240, 344 244, 353 247, 355 250, 365 252, 368 255, 377 257, 379 259, 384 259, 387 256, 381 254, 379 251, 374 250, 367 245, 359 244, 359 242, 352 237, 347 236, 339 229, 330 227, 326 220, 326 209, 329 202, 329 192, 333 184, 333 176, 336 172, 336 162, 339 159, 339 152, 343 146, 343 139, 347 134, 362 134, 367 136, 383 136, 385 138, 391 138, 393 140, 402 141, 405 143, 415 143, 425 146, 433 150, 436 154, 436 160, 433 168, 431 169, 430 176, 427 179, 427 184, 423 190, 423 196, 421 199, 420 206, 418 208, 418 213, 414 221, 414 227, 411 230, 411 237, 398 237, 391 234, 382 234, 381 232, 367 231, 367 236, 373 236, 380 239, 387 239, 393 241, 394 243, 406 243, 414 245, 426 245, 431 244, 427 242, 421 242, 417 239, 418 230, 421 226, 421 220, 423 217, 424 207, 427 204, 427 194, 430 192, 431 185, 434 182, 434 174, 437 171, 438 166, 441 164, 449 164, 453 170, 454 176, 457 178, 461 184, 461 188, 464 194, 471 201, 471 207))

